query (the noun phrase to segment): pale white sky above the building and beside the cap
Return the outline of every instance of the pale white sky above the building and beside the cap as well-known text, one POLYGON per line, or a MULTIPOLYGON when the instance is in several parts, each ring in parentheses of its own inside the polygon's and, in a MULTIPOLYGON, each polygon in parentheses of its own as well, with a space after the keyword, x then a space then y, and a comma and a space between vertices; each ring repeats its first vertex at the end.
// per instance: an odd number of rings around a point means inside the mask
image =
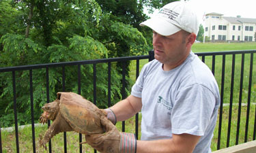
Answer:
POLYGON ((223 16, 256 18, 256 0, 187 0, 187 3, 195 8, 200 24, 203 23, 203 14, 212 12, 223 16))

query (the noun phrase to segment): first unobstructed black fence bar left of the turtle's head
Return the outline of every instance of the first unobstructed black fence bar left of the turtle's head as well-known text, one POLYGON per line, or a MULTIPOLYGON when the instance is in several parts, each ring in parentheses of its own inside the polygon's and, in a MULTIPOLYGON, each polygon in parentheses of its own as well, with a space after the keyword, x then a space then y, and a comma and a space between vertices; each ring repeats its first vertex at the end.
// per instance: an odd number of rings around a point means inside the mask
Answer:
POLYGON ((29 69, 29 84, 30 84, 30 110, 31 110, 31 127, 32 127, 32 138, 33 138, 33 152, 35 153, 35 124, 33 115, 33 73, 32 69, 29 69))

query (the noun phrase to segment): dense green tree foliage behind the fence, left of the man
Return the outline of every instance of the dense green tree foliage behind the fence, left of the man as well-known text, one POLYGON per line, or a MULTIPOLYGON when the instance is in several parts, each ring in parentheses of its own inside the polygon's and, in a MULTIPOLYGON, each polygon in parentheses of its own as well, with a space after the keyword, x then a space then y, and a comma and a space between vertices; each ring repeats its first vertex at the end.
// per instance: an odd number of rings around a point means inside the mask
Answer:
MULTIPOLYGON (((152 44, 151 31, 139 27, 147 19, 143 7, 167 1, 103 0, 2 0, 0 1, 0 67, 81 61, 145 54, 152 44)), ((129 63, 126 63, 128 73, 129 63)), ((111 101, 122 97, 122 63, 111 65, 111 101)), ((107 65, 97 70, 97 105, 106 107, 107 65)), ((50 101, 62 88, 62 68, 48 71, 50 101)), ((78 91, 77 68, 65 67, 66 91, 78 91)), ((46 103, 46 70, 16 71, 16 105, 19 124, 35 120, 46 103), (33 82, 29 82, 32 73, 33 82), (32 84, 32 89, 30 88, 32 84), (33 90, 33 101, 29 95, 33 90)), ((81 66, 81 95, 93 100, 93 65, 81 66)), ((12 73, 0 73, 1 126, 14 124, 12 73)), ((126 78, 126 92, 130 79, 126 78)))

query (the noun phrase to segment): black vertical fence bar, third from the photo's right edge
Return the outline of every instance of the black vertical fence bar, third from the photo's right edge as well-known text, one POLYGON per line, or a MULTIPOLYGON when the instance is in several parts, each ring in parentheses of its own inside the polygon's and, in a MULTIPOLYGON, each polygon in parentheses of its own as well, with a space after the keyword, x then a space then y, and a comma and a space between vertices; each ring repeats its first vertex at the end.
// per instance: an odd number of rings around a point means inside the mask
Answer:
POLYGON ((229 98, 229 124, 227 127, 227 148, 229 147, 230 139, 230 129, 231 129, 231 120, 232 120, 232 106, 233 106, 233 80, 235 75, 235 61, 236 54, 232 56, 232 70, 231 70, 231 87, 230 87, 230 98, 229 98))

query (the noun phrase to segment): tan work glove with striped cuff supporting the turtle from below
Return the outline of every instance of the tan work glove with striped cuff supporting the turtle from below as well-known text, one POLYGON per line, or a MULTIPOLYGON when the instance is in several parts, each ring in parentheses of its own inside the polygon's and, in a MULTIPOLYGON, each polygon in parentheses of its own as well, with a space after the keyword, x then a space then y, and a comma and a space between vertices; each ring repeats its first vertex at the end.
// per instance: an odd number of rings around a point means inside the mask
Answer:
POLYGON ((132 133, 119 133, 107 118, 100 118, 105 133, 85 135, 87 143, 102 153, 136 153, 137 140, 132 133))

